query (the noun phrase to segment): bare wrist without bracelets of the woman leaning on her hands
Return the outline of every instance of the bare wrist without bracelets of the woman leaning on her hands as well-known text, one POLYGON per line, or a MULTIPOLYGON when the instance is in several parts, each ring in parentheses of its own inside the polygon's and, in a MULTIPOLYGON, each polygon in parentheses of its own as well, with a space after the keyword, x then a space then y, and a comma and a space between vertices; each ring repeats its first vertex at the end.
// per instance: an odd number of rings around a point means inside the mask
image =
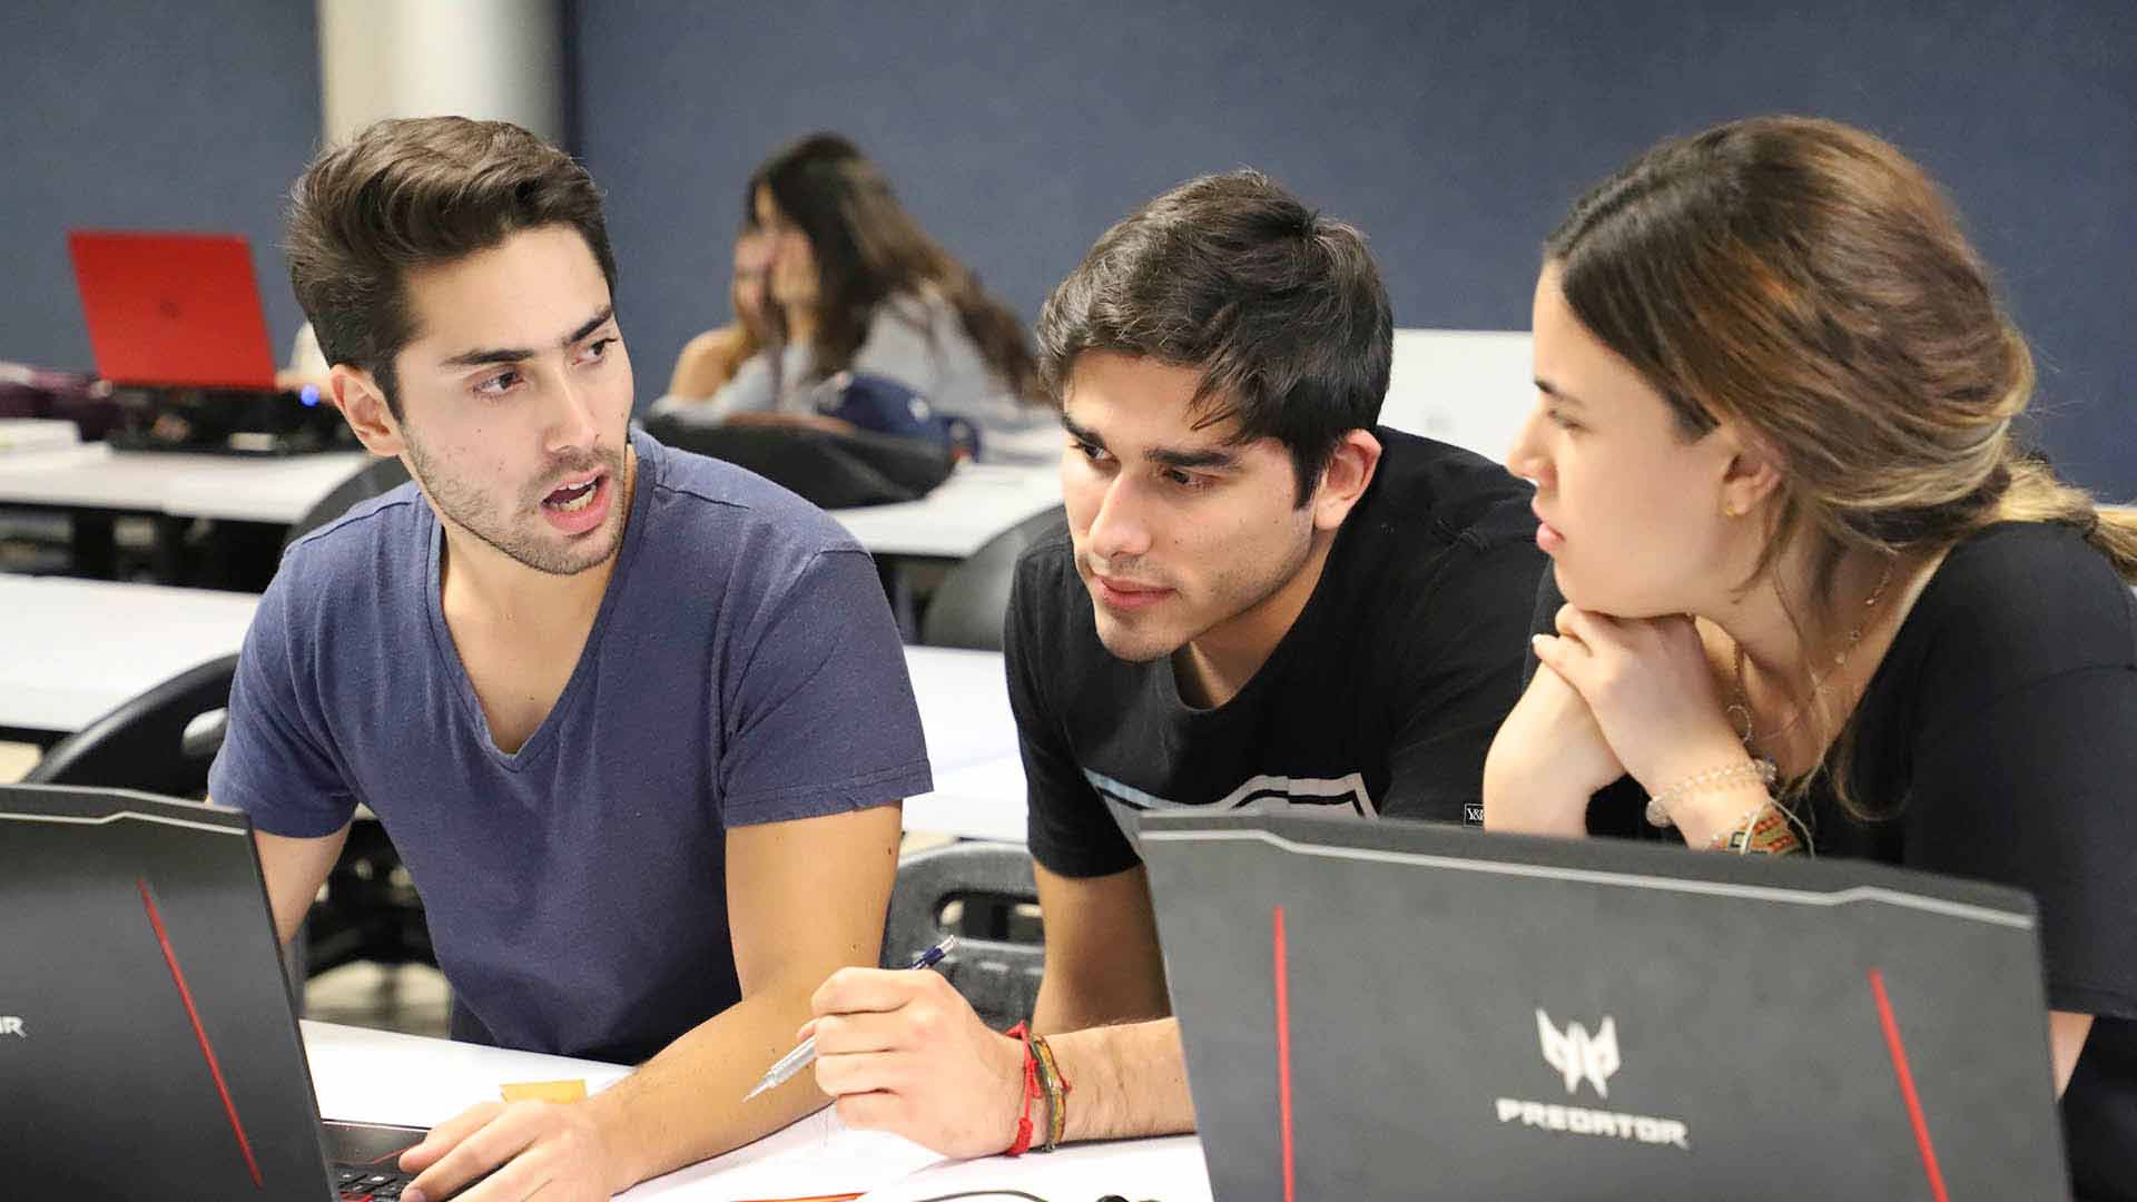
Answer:
POLYGON ((1624 776, 1588 702, 1547 663, 1537 669, 1483 761, 1483 826, 1588 834, 1588 796, 1624 776))

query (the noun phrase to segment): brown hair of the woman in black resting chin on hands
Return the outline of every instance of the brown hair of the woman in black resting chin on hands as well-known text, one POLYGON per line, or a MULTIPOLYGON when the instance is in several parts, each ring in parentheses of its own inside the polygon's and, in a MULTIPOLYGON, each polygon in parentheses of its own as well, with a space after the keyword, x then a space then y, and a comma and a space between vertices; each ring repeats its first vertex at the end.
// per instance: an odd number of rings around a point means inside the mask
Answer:
MULTIPOLYGON (((2032 355, 1893 145, 1808 118, 1665 141, 1581 197, 1545 257, 1688 441, 1727 419, 1780 456, 1752 582, 1814 539, 1810 601, 1831 614, 1846 554, 1928 556, 2007 520, 2073 526, 2137 582, 2137 513, 2103 511, 2013 436, 2032 355)), ((1842 802, 1844 764, 1842 740, 1842 802)))

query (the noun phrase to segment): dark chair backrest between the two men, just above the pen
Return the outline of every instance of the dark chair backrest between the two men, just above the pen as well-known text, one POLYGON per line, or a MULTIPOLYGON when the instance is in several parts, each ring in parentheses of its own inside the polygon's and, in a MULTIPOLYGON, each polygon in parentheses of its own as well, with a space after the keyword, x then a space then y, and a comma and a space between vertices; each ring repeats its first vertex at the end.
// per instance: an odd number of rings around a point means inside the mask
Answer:
POLYGON ((942 920, 951 903, 962 903, 966 918, 955 930, 957 950, 942 958, 938 971, 996 1031, 1030 1018, 1045 971, 1045 943, 974 935, 972 915, 1036 905, 1032 856, 1011 843, 951 843, 900 860, 883 933, 883 967, 902 969, 951 935, 942 920))

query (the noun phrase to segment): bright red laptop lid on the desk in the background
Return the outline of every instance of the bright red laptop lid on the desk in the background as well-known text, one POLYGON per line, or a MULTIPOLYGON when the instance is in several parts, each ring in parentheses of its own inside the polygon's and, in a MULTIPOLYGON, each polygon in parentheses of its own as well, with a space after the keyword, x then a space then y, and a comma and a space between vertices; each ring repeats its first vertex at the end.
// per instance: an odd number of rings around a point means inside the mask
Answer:
POLYGON ((66 244, 96 374, 122 385, 274 387, 244 237, 73 231, 66 244))

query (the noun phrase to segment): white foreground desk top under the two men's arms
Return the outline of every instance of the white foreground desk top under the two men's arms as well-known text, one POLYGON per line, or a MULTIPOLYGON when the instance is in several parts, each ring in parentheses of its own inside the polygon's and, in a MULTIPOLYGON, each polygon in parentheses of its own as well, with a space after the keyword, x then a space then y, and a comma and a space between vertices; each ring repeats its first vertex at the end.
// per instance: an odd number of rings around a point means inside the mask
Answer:
MULTIPOLYGON (((622 1080, 624 1069, 532 1052, 506 1052, 447 1039, 303 1022, 312 1089, 323 1119, 436 1125, 479 1101, 496 1101, 511 1080, 579 1078, 590 1091, 622 1080)), ((895 1202, 962 1189, 1015 1187, 1045 1198, 1165 1198, 1203 1202, 1210 1176, 1201 1140, 1124 1140, 1062 1149, 1043 1157, 945 1161, 895 1136, 855 1131, 821 1110, 763 1140, 648 1181, 628 1202, 650 1198, 810 1198, 868 1191, 895 1202)))

